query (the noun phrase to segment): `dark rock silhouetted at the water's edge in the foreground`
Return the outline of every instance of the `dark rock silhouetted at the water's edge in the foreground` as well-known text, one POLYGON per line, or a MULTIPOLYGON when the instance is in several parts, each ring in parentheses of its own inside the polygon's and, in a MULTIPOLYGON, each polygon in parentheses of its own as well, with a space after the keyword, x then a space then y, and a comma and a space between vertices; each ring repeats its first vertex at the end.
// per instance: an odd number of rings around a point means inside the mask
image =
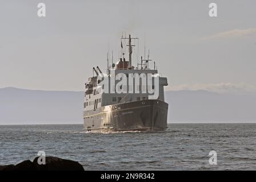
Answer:
POLYGON ((17 165, 0 166, 0 171, 84 171, 83 166, 73 160, 46 156, 46 163, 39 165, 38 158, 35 158, 33 162, 24 160, 17 165))

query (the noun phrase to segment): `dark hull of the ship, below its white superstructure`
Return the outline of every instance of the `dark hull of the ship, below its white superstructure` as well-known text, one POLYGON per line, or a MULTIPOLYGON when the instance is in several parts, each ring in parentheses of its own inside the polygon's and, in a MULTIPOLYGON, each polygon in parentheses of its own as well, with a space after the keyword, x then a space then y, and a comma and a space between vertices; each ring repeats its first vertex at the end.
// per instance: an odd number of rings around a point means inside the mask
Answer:
POLYGON ((91 132, 161 131, 167 127, 168 104, 144 100, 103 106, 84 114, 84 129, 91 132))

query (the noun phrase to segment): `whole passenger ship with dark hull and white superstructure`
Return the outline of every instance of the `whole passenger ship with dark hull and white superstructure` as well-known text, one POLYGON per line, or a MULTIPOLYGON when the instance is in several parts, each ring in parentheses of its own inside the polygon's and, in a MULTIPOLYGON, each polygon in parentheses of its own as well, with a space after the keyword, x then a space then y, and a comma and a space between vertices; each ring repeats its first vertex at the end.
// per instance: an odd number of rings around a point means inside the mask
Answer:
MULTIPOLYGON (((158 70, 150 69, 149 55, 132 65, 132 53, 138 38, 121 38, 121 56, 117 64, 109 64, 107 73, 93 68, 96 76, 89 77, 85 84, 83 130, 90 132, 110 131, 161 131, 167 128, 168 104, 163 86, 166 77, 158 70), (129 61, 125 59, 123 42, 128 42, 129 61)), ((113 54, 112 54, 113 55, 113 54)))

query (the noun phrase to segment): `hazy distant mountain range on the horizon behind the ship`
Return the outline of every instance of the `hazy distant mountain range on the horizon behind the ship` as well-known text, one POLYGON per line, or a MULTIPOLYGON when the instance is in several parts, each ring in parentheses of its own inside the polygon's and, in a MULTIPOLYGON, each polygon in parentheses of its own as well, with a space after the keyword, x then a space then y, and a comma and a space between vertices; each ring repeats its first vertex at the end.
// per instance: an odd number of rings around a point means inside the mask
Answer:
MULTIPOLYGON (((0 125, 83 123, 83 92, 0 89, 0 125)), ((165 92, 168 122, 256 122, 256 94, 165 92)))

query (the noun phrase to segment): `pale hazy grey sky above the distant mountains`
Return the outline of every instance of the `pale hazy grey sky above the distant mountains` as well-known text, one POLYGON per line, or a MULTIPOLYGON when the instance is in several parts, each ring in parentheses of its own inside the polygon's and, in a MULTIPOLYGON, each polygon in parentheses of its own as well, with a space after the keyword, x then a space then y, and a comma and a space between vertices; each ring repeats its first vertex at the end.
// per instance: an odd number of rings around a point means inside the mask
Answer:
MULTIPOLYGON (((256 91, 256 1, 0 1, 0 88, 83 90, 122 32, 138 36, 168 89, 256 91), (39 2, 46 17, 37 16, 39 2), (218 5, 210 18, 209 3, 218 5)), ((133 63, 137 64, 137 48, 133 63)))

